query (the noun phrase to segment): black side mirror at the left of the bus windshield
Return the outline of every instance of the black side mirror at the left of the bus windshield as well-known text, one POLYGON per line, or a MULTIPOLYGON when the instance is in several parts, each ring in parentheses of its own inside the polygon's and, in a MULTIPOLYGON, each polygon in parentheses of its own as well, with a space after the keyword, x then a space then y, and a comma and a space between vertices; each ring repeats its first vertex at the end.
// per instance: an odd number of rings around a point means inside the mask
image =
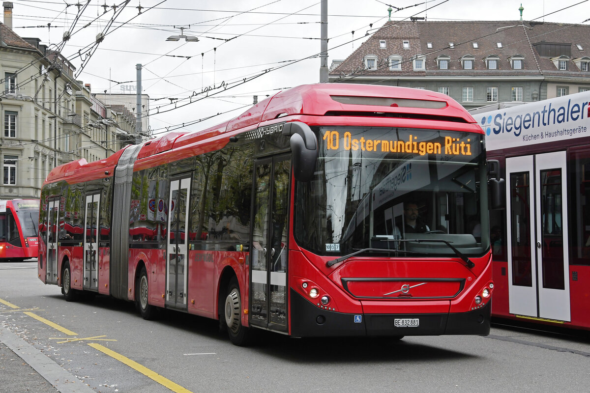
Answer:
POLYGON ((317 138, 312 129, 300 121, 291 121, 283 125, 283 135, 290 135, 291 153, 293 153, 293 175, 299 181, 310 181, 316 169, 319 154, 317 138))

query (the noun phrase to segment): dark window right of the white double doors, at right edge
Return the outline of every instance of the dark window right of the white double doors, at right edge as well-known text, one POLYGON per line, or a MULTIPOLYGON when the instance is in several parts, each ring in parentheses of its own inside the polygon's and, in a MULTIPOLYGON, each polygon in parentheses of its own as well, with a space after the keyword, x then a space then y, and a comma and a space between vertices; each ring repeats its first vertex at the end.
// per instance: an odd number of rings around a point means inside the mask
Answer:
POLYGON ((572 154, 570 167, 572 265, 590 265, 590 151, 572 154))

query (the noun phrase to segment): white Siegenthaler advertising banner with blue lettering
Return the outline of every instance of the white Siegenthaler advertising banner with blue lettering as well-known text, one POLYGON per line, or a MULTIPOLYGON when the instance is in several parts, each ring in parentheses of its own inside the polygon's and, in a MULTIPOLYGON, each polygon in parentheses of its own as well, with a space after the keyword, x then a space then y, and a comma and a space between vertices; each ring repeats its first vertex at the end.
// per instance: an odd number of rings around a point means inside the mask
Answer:
POLYGON ((590 136, 590 92, 478 113, 486 150, 590 136))

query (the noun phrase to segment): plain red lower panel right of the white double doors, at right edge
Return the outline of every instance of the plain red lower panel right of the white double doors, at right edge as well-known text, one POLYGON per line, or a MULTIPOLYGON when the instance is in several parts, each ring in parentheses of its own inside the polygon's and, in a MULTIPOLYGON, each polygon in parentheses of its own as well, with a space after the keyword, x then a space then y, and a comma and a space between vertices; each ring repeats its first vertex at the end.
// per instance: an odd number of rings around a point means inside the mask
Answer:
POLYGON ((572 305, 572 325, 588 329, 590 326, 590 266, 569 266, 569 290, 572 305))

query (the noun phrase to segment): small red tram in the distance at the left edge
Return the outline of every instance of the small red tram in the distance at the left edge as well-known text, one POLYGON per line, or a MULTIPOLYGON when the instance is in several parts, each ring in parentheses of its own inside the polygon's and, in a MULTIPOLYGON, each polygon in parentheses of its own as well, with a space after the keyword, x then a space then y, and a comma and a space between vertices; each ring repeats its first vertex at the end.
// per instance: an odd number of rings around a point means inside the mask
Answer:
POLYGON ((0 261, 37 257, 38 199, 0 200, 0 261))

